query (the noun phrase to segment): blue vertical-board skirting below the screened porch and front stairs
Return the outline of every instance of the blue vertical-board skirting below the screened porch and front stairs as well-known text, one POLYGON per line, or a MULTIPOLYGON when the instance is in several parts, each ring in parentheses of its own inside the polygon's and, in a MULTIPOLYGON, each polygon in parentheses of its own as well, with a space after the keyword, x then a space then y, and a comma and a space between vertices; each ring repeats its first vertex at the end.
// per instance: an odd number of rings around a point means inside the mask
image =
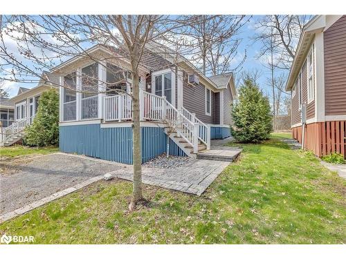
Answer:
MULTIPOLYGON (((166 152, 163 128, 142 127, 142 162, 166 152)), ((103 160, 132 164, 132 128, 101 128, 100 124, 60 126, 60 151, 88 155, 103 160)), ((170 155, 185 153, 170 140, 170 155)))

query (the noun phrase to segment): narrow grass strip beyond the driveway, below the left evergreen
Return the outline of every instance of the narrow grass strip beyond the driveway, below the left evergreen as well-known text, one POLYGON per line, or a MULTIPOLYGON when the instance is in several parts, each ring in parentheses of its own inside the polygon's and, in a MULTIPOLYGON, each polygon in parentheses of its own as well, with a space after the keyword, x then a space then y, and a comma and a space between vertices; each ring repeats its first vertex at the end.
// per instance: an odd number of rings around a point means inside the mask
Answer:
POLYGON ((18 146, 1 147, 0 155, 1 157, 17 157, 19 155, 33 155, 33 154, 46 155, 50 153, 55 153, 57 151, 59 151, 59 148, 57 148, 57 146, 32 148, 28 146, 18 145, 18 146))

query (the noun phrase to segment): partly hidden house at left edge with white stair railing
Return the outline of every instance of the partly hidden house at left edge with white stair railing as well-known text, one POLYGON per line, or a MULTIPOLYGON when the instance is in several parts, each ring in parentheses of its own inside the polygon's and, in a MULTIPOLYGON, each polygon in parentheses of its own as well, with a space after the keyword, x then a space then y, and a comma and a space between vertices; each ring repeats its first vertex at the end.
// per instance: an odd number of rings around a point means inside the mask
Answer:
MULTIPOLYGON (((51 88, 55 88, 57 91, 59 90, 59 86, 57 85, 58 77, 51 75, 47 71, 44 71, 41 77, 42 79, 39 80, 37 86, 31 89, 19 87, 17 95, 7 100, 9 104, 8 108, 12 111, 12 117, 11 113, 9 115, 14 121, 11 121, 5 128, 2 128, 1 146, 10 146, 21 140, 24 134, 24 128, 33 122, 33 117, 35 117, 39 106, 39 97, 44 91, 51 88)), ((2 116, 1 113, 1 118, 2 116)))

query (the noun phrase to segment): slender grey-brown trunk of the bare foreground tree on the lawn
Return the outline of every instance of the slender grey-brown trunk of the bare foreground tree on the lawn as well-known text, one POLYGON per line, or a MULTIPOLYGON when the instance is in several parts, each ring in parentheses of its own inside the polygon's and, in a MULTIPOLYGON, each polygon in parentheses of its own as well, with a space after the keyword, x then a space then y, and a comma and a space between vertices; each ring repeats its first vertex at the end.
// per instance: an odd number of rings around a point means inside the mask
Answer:
POLYGON ((129 209, 133 210, 136 204, 143 199, 142 193, 142 156, 140 152, 140 105, 139 105, 139 76, 138 70, 132 64, 132 108, 133 108, 133 152, 134 152, 134 183, 132 201, 129 204, 129 209))

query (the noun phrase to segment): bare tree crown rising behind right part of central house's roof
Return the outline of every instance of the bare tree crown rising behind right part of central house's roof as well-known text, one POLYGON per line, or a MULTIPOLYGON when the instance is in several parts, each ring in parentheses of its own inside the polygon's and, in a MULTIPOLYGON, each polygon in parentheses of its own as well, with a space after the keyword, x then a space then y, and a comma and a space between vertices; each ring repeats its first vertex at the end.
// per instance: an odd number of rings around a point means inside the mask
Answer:
POLYGON ((238 37, 244 25, 251 19, 245 15, 193 15, 181 18, 187 26, 181 32, 190 57, 204 74, 219 75, 236 70, 246 59, 232 67, 239 54, 242 39, 238 37))

